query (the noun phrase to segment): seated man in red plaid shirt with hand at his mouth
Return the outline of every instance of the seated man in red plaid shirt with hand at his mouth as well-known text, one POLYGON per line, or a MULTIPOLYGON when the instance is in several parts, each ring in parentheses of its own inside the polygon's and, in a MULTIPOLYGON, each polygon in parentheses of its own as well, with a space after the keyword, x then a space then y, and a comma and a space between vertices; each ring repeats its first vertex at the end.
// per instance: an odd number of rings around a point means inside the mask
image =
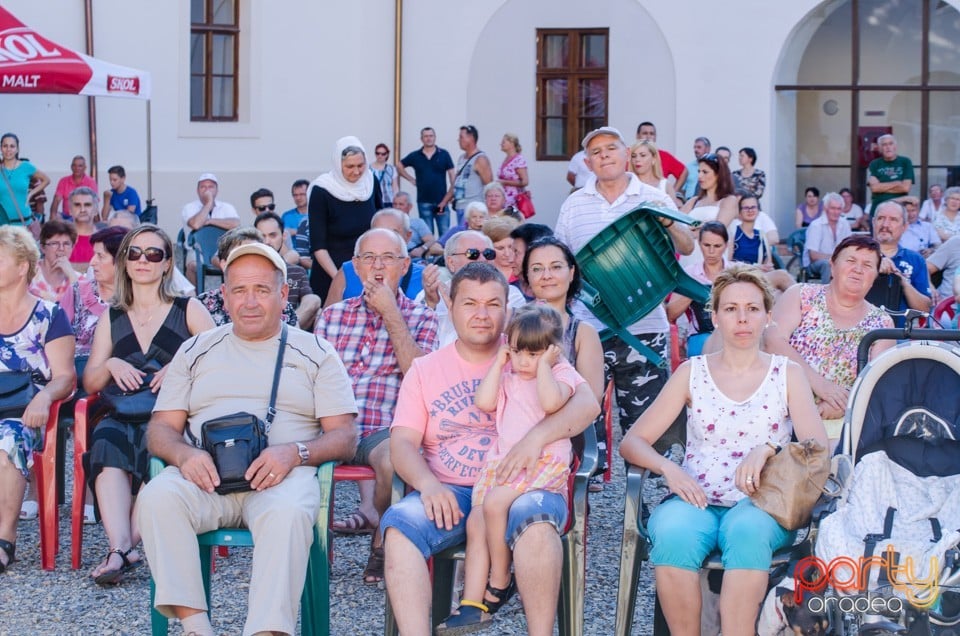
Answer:
POLYGON ((403 374, 414 358, 437 348, 437 319, 429 307, 399 291, 410 258, 396 232, 364 233, 357 241, 353 266, 363 281, 363 294, 324 309, 315 333, 336 348, 353 383, 360 444, 352 463, 371 466, 377 475, 372 488, 369 482, 360 482, 359 508, 334 522, 333 529, 373 533, 363 580, 376 584, 383 580, 383 544, 376 530, 390 505, 393 479, 390 422, 403 374))

